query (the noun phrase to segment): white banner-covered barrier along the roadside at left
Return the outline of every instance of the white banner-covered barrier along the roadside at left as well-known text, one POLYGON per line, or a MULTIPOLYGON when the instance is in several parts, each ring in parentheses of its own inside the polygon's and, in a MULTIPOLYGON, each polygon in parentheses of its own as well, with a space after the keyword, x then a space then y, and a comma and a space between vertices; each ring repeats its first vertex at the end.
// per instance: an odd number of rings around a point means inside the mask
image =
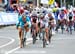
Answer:
POLYGON ((0 25, 16 24, 18 13, 0 13, 0 25))

